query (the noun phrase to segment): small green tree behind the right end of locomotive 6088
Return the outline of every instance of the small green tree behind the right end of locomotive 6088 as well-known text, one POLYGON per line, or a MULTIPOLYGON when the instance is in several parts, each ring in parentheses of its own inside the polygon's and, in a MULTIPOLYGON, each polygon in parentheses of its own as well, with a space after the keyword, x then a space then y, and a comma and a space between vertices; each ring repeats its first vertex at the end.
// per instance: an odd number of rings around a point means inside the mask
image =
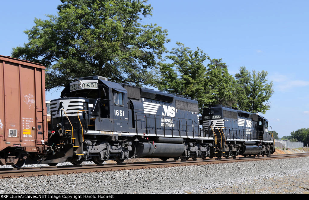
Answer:
POLYGON ((237 104, 239 109, 248 112, 262 112, 265 114, 270 108, 269 99, 273 94, 273 82, 267 83, 267 71, 252 71, 240 67, 235 75, 237 82, 237 104))

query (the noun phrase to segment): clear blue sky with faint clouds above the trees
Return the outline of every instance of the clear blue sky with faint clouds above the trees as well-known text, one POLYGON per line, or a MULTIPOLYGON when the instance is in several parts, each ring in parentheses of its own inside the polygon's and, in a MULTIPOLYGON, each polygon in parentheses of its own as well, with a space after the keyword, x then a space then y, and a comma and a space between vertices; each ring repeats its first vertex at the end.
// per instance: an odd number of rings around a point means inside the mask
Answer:
MULTIPOLYGON (((0 55, 28 41, 24 30, 34 18, 56 14, 53 1, 3 1, 0 15, 0 55)), ((156 23, 168 30, 171 42, 211 58, 222 58, 233 76, 239 67, 269 72, 275 93, 264 115, 279 137, 309 127, 309 1, 187 1, 150 0, 153 16, 143 24, 156 23)), ((46 99, 60 92, 47 93, 46 99)))

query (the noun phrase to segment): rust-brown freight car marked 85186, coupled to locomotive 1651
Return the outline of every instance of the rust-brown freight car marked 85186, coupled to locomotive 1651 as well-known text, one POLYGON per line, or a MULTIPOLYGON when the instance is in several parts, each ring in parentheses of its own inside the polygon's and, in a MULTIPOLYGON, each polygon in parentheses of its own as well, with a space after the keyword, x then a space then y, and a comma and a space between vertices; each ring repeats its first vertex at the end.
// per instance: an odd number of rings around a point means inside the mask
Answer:
POLYGON ((0 55, 0 164, 45 153, 45 67, 0 55))

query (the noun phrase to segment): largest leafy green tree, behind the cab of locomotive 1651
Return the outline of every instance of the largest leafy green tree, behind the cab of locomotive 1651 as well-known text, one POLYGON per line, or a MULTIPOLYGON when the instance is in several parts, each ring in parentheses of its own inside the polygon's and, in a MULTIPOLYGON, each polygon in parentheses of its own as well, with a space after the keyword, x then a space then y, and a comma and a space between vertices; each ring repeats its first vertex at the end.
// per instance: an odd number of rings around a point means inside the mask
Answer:
POLYGON ((47 67, 47 89, 93 75, 138 86, 156 83, 156 60, 169 40, 167 30, 140 23, 152 12, 147 0, 61 2, 57 15, 34 20, 35 26, 24 31, 28 43, 12 52, 47 67))

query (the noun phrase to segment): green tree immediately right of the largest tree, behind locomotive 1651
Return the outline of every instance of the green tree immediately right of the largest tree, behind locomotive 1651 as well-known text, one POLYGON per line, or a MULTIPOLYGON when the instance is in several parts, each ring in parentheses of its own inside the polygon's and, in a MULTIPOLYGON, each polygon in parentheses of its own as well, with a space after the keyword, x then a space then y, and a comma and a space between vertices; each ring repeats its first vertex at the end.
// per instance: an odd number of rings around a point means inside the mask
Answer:
POLYGON ((161 79, 157 86, 159 90, 165 92, 190 96, 199 101, 201 108, 210 97, 204 88, 206 73, 204 62, 208 56, 198 47, 192 51, 180 42, 176 44, 178 48, 172 48, 171 55, 165 56, 172 63, 159 64, 161 79))

